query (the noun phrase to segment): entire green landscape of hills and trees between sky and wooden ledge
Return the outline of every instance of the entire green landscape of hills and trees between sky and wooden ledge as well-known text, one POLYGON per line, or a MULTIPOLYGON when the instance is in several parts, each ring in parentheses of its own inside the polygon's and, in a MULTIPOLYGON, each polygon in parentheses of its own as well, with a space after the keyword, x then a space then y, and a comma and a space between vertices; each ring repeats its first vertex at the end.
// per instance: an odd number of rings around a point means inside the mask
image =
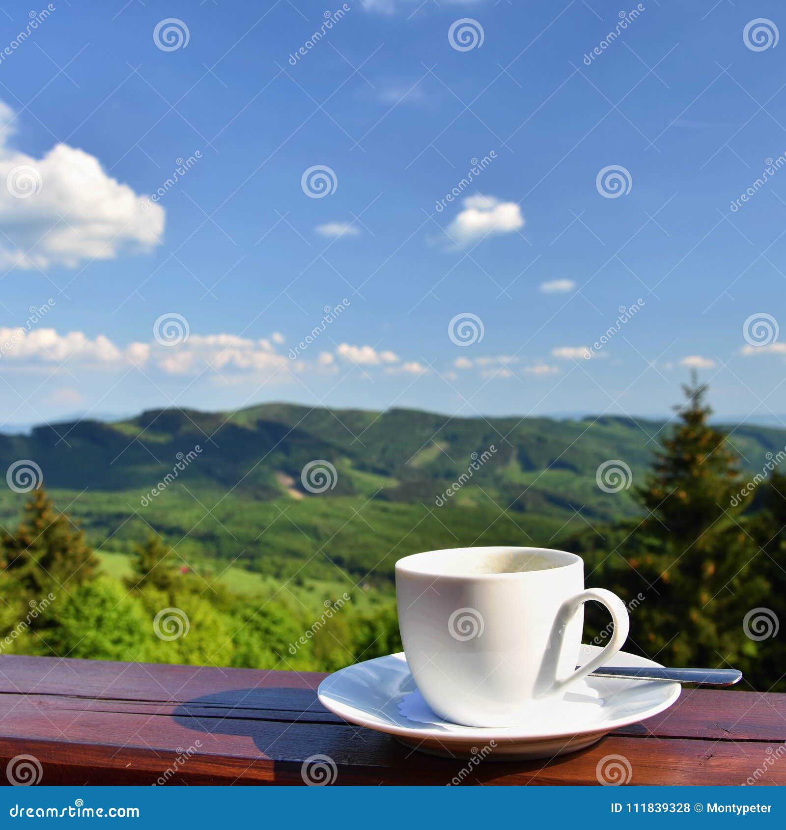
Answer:
POLYGON ((784 690, 786 432, 685 393, 668 423, 266 405, 2 437, 0 651, 334 669, 400 647, 397 559, 516 544, 581 554, 631 651, 784 690))

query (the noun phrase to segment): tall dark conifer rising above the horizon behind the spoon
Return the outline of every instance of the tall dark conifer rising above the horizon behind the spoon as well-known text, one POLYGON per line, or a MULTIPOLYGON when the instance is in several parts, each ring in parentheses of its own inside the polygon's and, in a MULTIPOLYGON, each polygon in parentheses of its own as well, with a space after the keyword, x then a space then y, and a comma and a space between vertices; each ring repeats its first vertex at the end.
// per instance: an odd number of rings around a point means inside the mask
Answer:
MULTIPOLYGON (((646 650, 666 662, 739 662, 743 618, 767 583, 752 565, 759 553, 739 515, 739 461, 710 426, 705 384, 683 386, 680 423, 662 441, 652 475, 637 491, 647 510, 625 544, 628 564, 652 587, 635 613, 646 650)), ((635 635, 634 635, 635 636, 635 635)))

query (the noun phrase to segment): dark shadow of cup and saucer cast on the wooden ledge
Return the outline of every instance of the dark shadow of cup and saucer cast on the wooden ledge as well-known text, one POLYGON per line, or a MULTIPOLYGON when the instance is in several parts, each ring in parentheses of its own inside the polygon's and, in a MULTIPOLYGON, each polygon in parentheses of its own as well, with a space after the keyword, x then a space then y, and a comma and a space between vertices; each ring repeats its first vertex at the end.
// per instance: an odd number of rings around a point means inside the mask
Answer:
MULTIPOLYGON (((194 740, 201 740, 200 752, 247 757, 247 745, 233 747, 222 736, 251 738, 259 758, 271 760, 274 773, 280 764, 281 772, 286 771, 290 778, 293 771, 300 775, 300 764, 315 755, 331 759, 339 777, 344 768, 354 779, 368 779, 374 784, 385 780, 407 783, 408 770, 413 777, 411 783, 445 784, 468 764, 466 759, 418 752, 399 744, 392 735, 346 723, 326 710, 310 689, 281 686, 218 691, 180 704, 172 717, 178 725, 193 730, 194 740)), ((488 761, 477 764, 465 783, 542 770, 586 751, 551 761, 488 761)))

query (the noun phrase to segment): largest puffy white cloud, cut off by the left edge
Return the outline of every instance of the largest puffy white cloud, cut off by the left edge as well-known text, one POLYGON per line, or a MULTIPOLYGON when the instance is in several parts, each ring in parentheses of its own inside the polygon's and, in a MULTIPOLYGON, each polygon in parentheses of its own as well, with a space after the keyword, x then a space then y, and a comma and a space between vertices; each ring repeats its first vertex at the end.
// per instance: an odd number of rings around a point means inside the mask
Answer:
POLYGON ((111 178, 95 156, 56 144, 41 159, 8 146, 13 111, 0 101, 0 264, 76 268, 149 251, 164 232, 164 208, 111 178))

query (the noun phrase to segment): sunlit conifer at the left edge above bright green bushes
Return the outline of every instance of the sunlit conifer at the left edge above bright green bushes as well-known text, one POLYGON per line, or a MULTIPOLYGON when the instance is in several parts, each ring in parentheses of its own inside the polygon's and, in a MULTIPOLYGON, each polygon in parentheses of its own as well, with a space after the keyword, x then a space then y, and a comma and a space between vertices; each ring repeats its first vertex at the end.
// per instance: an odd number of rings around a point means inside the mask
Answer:
POLYGON ((32 598, 66 593, 95 579, 97 564, 85 535, 65 513, 56 510, 43 487, 25 505, 25 515, 12 535, 2 539, 7 571, 32 598))

